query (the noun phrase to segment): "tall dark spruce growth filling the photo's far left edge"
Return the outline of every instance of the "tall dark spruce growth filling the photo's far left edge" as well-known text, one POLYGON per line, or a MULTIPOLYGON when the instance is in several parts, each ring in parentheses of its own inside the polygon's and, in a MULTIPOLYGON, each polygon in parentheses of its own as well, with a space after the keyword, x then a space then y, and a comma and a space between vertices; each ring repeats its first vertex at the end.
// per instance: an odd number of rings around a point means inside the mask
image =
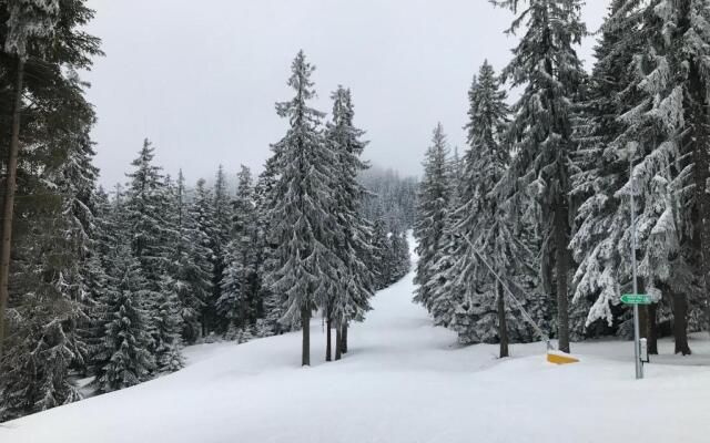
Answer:
MULTIPOLYGON (((51 45, 38 34, 43 20, 37 16, 42 12, 36 10, 40 2, 0 3, 0 22, 4 24, 0 42, 18 37, 8 33, 28 38, 24 54, 10 50, 0 60, 0 72, 6 74, 0 75, 0 114, 8 122, 12 120, 13 130, 6 126, 8 131, 0 131, 0 146, 7 155, 2 159, 4 183, 10 184, 3 192, 17 188, 23 196, 14 202, 4 199, 3 220, 13 231, 4 229, 2 236, 2 268, 7 271, 12 235, 11 285, 1 285, 0 291, 0 348, 6 346, 0 349, 2 421, 79 398, 72 374, 84 365, 77 326, 85 315, 81 295, 87 274, 74 253, 88 248, 83 234, 91 230, 85 217, 91 210, 80 210, 79 204, 91 204, 84 189, 94 177, 93 168, 88 167, 88 134, 94 113, 75 70, 89 68, 91 55, 100 51, 98 39, 84 33, 82 44, 71 44, 92 16, 83 2, 67 1, 68 8, 55 11, 54 31, 44 35, 51 38, 51 45), (24 68, 18 69, 20 61, 26 62, 24 68), (31 75, 18 82, 24 69, 31 75), (24 100, 29 96, 31 101, 24 100), (12 159, 8 154, 20 146, 31 146, 31 155, 21 155, 17 167, 21 178, 16 184, 17 155, 12 159)), ((52 4, 55 2, 47 1, 39 7, 52 4)))

